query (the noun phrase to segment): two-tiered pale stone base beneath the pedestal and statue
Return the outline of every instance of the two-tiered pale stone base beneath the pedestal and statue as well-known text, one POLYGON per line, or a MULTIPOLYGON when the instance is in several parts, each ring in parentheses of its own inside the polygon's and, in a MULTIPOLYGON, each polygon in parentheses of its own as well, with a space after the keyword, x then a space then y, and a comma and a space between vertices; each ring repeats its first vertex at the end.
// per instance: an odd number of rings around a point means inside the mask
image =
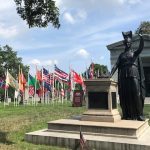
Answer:
POLYGON ((60 119, 48 122, 48 129, 26 133, 25 140, 74 149, 82 131, 89 149, 95 150, 149 150, 150 127, 148 120, 120 120, 94 122, 60 119))

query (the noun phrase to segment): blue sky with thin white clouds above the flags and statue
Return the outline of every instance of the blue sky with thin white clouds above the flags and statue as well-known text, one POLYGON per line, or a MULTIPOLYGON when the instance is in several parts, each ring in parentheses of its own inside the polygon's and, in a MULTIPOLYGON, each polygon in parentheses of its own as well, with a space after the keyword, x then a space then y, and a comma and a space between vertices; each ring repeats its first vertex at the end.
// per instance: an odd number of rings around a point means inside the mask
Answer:
POLYGON ((55 0, 60 12, 59 29, 29 28, 16 12, 14 0, 0 0, 0 46, 17 51, 23 63, 35 71, 54 64, 81 73, 91 62, 107 65, 107 45, 123 39, 121 32, 150 21, 149 0, 55 0))

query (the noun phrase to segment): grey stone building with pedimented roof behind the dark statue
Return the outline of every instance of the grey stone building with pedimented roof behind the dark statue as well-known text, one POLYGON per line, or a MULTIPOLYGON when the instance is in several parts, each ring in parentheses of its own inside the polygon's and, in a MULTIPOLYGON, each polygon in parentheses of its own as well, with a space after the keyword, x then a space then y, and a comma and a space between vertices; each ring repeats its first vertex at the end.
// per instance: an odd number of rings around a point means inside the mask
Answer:
MULTIPOLYGON (((146 97, 150 97, 150 35, 145 34, 143 35, 143 38, 144 38, 144 49, 140 54, 140 56, 142 59, 145 74, 146 97)), ((139 36, 134 35, 132 48, 137 49, 138 46, 139 46, 139 36)), ((116 63, 119 54, 124 51, 123 40, 107 45, 107 49, 110 51, 110 61, 112 68, 113 65, 116 63)), ((113 78, 117 80, 117 71, 114 74, 113 78)))

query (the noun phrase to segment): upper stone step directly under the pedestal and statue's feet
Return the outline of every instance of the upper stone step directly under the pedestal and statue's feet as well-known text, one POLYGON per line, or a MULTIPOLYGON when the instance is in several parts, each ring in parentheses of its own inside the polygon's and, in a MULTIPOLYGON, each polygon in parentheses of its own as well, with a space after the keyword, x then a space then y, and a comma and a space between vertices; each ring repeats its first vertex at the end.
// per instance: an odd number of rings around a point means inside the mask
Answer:
POLYGON ((73 119, 60 119, 48 122, 48 130, 77 133, 80 130, 89 135, 139 138, 149 128, 148 120, 120 120, 111 122, 91 122, 73 119))

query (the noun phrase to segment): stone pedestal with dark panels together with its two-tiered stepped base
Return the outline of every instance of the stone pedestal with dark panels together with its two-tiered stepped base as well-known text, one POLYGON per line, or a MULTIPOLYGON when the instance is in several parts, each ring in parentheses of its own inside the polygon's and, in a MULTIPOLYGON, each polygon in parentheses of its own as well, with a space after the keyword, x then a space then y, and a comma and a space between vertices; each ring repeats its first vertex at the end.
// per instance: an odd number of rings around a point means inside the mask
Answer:
POLYGON ((121 120, 117 110, 116 82, 110 79, 86 80, 87 111, 78 119, 48 122, 48 129, 26 133, 35 144, 75 149, 82 131, 89 149, 150 150, 148 120, 121 120))

